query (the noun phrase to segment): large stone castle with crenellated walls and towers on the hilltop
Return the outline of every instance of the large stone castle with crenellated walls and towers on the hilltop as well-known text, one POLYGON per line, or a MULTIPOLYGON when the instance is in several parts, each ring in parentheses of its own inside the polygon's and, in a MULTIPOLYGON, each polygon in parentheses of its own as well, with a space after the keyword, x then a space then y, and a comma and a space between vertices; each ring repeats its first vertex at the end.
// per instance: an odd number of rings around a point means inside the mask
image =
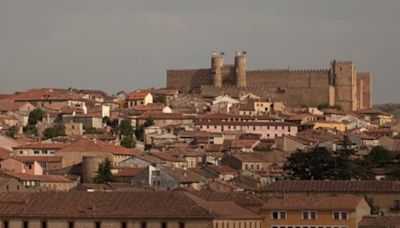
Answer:
POLYGON ((337 105, 345 111, 371 107, 371 75, 357 72, 350 61, 331 62, 329 69, 247 70, 246 52, 236 53, 234 65, 212 53, 210 69, 168 70, 167 87, 203 97, 251 92, 288 106, 337 105))

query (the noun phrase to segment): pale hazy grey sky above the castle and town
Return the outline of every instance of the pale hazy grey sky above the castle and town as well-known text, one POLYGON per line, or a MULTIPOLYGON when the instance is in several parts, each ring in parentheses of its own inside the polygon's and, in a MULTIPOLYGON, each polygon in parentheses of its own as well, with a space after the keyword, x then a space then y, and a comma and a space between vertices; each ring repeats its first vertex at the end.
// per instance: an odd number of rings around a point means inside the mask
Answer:
POLYGON ((246 50, 251 69, 353 60, 374 103, 400 102, 399 42, 399 0, 0 0, 0 93, 162 87, 246 50))

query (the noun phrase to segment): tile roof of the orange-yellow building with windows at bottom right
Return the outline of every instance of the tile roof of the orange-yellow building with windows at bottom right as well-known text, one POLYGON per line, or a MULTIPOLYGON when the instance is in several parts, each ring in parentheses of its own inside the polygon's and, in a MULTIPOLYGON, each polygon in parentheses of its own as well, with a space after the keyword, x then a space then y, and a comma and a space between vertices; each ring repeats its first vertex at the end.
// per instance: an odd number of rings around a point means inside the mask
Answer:
POLYGON ((359 196, 284 196, 272 197, 264 210, 346 210, 355 211, 362 202, 359 196))

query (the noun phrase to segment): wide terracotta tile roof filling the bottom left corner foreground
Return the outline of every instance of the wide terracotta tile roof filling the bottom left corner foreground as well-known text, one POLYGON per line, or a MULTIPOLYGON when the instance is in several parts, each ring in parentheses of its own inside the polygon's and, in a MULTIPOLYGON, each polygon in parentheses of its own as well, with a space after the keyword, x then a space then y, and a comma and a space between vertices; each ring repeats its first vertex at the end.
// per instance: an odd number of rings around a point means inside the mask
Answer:
POLYGON ((182 192, 0 193, 1 217, 212 219, 182 192))

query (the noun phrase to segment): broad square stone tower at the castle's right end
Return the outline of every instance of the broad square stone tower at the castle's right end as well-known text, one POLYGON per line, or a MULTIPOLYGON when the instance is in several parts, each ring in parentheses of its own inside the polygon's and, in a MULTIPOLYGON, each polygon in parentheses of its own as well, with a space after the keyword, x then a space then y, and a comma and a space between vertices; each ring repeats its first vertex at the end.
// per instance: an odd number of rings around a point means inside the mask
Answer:
POLYGON ((356 69, 352 62, 331 62, 334 86, 335 103, 343 108, 344 111, 354 111, 357 109, 357 87, 356 69))

